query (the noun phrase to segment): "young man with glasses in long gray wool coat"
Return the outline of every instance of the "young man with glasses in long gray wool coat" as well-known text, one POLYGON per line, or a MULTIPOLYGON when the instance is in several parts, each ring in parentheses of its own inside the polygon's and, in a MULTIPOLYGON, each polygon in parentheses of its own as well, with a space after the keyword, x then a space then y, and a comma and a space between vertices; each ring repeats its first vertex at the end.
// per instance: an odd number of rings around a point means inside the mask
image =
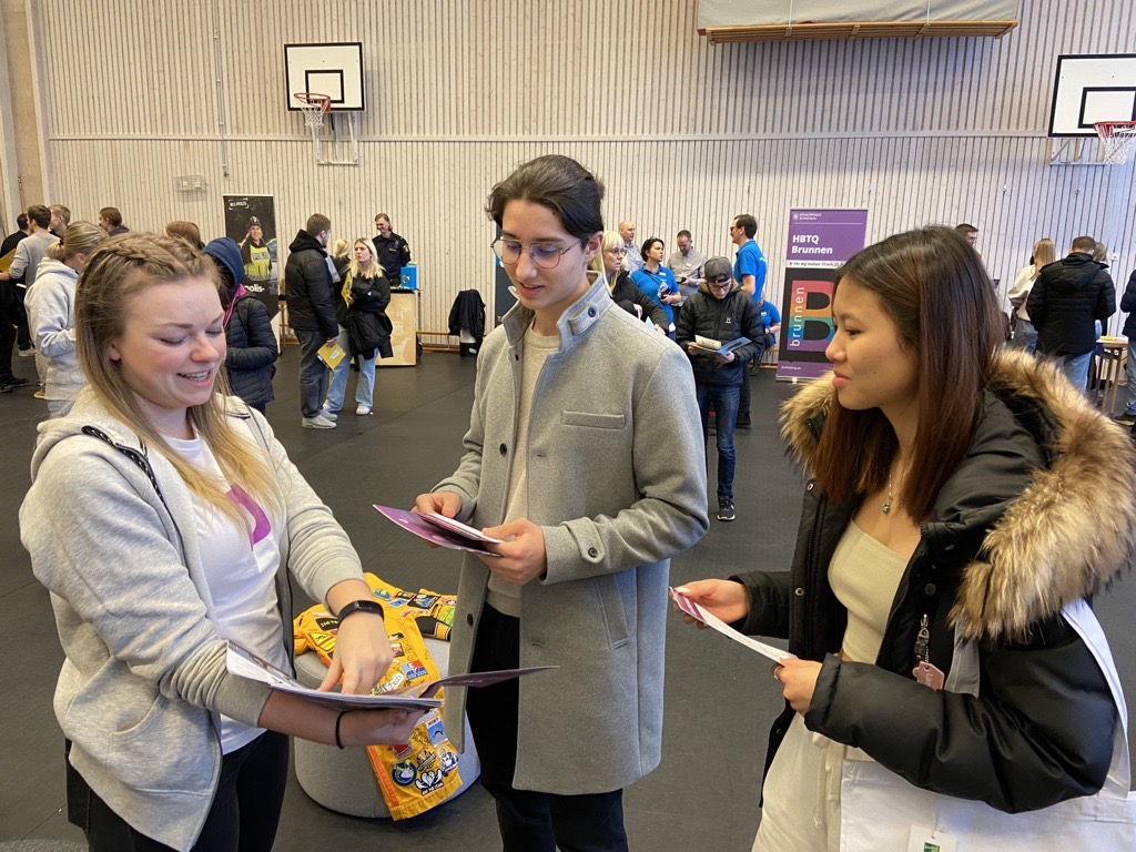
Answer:
POLYGON ((466 556, 450 670, 559 667, 448 696, 508 852, 627 850, 623 788, 661 759, 670 558, 708 526, 686 357, 588 283, 602 198, 559 156, 493 187, 518 304, 478 356, 458 469, 416 501, 503 540, 466 556))

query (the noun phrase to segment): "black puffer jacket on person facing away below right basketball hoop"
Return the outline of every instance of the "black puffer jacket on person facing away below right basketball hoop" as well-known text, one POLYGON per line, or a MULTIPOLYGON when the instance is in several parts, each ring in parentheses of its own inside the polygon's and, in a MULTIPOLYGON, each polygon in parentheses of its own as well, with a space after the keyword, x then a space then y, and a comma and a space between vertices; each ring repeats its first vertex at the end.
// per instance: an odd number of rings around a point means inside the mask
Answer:
POLYGON ((1037 351, 1079 356, 1096 345, 1095 320, 1117 311, 1112 277, 1092 257, 1075 251, 1042 268, 1026 312, 1037 328, 1037 351))

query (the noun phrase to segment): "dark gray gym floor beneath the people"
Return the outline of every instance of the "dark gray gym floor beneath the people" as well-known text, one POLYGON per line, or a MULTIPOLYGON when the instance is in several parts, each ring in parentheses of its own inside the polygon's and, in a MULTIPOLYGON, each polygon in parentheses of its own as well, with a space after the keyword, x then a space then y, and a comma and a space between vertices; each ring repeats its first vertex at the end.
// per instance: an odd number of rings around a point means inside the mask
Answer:
MULTIPOLYGON (((375 412, 342 414, 333 432, 300 428, 298 362, 296 348, 289 346, 268 416, 293 461, 351 535, 365 568, 403 587, 457 591, 456 552, 428 550, 370 507, 409 507, 416 494, 452 471, 469 416, 473 359, 426 353, 418 367, 381 369, 375 412)), ((15 368, 34 381, 31 359, 16 359, 15 368)), ((777 383, 771 370, 759 371, 751 382, 753 431, 737 433, 738 518, 711 521, 702 542, 674 561, 675 585, 754 566, 788 567, 801 478, 777 438, 776 408, 793 389, 777 383)), ((43 402, 31 390, 0 396, 0 445, 7 448, 8 470, 0 483, 0 553, 8 554, 0 562, 0 629, 7 636, 0 662, 0 849, 5 841, 25 838, 83 840, 64 812, 62 735, 51 710, 61 653, 48 595, 19 544, 18 510, 35 424, 44 416, 43 402)), ((711 470, 711 496, 712 481, 711 470)), ((1109 504, 1109 495, 1102 494, 1101 511, 1109 504)), ((1136 695, 1134 588, 1126 578, 1097 601, 1129 695, 1136 695)), ((769 724, 783 705, 779 691, 763 658, 722 636, 685 627, 675 617, 667 642, 662 765, 626 792, 632 849, 745 852, 758 824, 769 724)), ((587 747, 586 732, 565 735, 578 736, 579 746, 587 747)), ((73 846, 58 846, 65 847, 73 846)), ((488 852, 501 844, 492 802, 477 786, 426 815, 391 822, 333 813, 308 799, 293 778, 276 849, 317 847, 488 852)))

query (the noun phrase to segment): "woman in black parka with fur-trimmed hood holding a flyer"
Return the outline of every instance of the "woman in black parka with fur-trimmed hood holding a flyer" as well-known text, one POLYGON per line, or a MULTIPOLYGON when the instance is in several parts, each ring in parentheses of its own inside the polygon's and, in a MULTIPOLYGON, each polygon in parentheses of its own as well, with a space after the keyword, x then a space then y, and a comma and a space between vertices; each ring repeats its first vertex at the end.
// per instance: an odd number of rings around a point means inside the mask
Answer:
MULTIPOLYGON (((1001 346, 994 287, 953 229, 857 253, 833 318, 833 371, 783 407, 809 471, 791 569, 676 590, 793 654, 772 667, 786 709, 753 849, 914 849, 908 801, 959 850, 1026 829, 1064 847, 1081 829, 1037 826, 1118 766, 1122 698, 1085 601, 1136 543, 1136 450, 1055 366, 1001 346)), ((1083 829, 1108 830, 1104 804, 1086 800, 1083 829)))

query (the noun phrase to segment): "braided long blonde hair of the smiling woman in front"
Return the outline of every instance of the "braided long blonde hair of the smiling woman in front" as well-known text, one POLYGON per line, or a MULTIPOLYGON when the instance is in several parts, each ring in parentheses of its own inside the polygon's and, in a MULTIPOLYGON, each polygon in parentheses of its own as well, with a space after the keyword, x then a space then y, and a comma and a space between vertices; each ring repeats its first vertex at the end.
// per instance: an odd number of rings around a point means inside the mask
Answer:
POLYGON ((124 234, 108 240, 87 258, 80 276, 75 346, 83 373, 100 402, 161 453, 195 496, 245 525, 243 510, 226 496, 227 483, 240 483, 251 496, 273 508, 278 508, 282 501, 268 459, 253 451, 228 419, 228 384, 224 371, 218 370, 208 402, 187 409, 190 423, 217 459, 223 481, 202 474, 169 446, 123 376, 122 365, 110 358, 111 344, 125 331, 126 310, 133 298, 142 296, 156 284, 193 279, 204 279, 218 287, 220 284, 212 261, 183 240, 157 234, 124 234))

